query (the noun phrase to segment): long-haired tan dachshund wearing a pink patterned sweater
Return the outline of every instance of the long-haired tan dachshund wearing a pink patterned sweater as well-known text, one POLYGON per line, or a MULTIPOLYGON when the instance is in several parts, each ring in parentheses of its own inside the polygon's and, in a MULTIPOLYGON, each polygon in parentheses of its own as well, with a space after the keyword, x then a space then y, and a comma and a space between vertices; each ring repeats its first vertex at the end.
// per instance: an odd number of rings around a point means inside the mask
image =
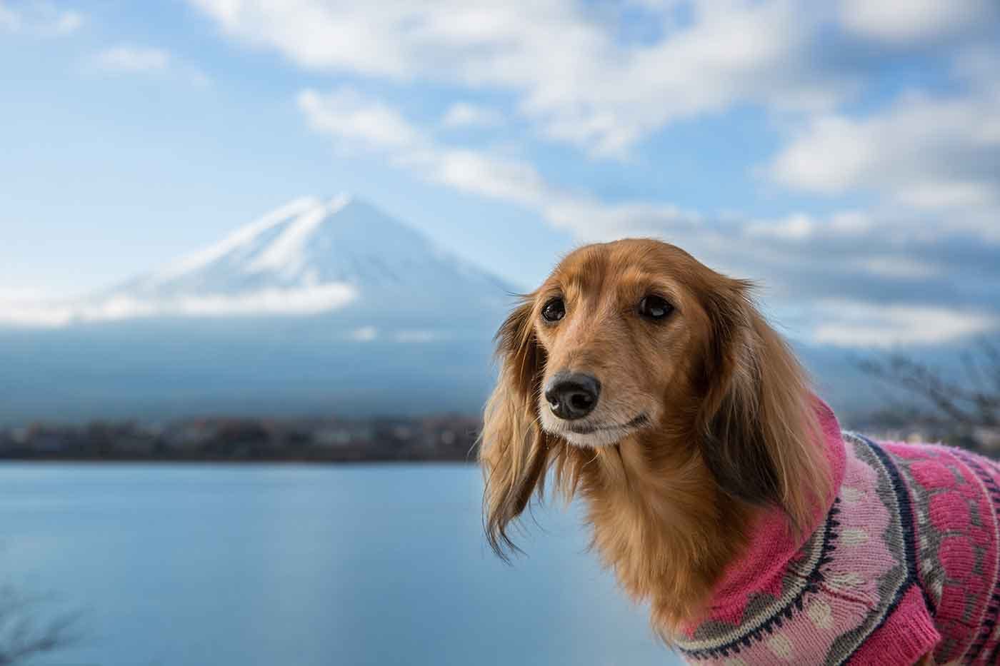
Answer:
POLYGON ((497 334, 494 550, 551 479, 692 663, 1000 663, 1000 469, 841 432, 750 284, 674 246, 583 247, 497 334))

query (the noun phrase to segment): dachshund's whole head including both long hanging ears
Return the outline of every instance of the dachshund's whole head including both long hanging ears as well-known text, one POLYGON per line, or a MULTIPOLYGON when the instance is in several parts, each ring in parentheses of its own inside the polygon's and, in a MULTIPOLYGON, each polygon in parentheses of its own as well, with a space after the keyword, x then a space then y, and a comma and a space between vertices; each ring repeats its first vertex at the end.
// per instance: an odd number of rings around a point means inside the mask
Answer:
POLYGON ((728 496, 806 517, 814 504, 791 477, 822 468, 812 398, 749 288, 672 245, 622 240, 573 252, 523 298, 497 334, 483 431, 494 546, 510 545, 504 527, 549 465, 579 459, 561 447, 627 439, 687 438, 728 496))

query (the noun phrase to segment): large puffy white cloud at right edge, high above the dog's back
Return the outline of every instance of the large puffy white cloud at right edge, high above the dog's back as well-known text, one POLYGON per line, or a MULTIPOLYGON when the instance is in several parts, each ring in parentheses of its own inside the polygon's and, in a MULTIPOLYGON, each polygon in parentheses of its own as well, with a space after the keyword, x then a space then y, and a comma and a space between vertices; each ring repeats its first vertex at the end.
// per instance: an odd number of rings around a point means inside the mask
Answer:
POLYGON ((949 98, 910 93, 860 119, 821 116, 773 159, 768 174, 794 189, 868 190, 904 209, 947 210, 953 224, 985 233, 1000 207, 998 169, 1000 92, 993 89, 949 98))

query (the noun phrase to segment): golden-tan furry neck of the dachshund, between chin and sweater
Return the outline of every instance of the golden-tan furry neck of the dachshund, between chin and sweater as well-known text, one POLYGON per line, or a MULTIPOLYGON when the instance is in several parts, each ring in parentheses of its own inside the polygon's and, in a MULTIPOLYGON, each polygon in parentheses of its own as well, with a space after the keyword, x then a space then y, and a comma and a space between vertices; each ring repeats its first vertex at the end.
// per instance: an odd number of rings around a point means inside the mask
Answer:
POLYGON ((718 487, 691 440, 646 433, 599 449, 581 475, 593 545, 665 638, 708 602, 755 509, 718 487), (660 453, 654 453, 660 452, 660 453))

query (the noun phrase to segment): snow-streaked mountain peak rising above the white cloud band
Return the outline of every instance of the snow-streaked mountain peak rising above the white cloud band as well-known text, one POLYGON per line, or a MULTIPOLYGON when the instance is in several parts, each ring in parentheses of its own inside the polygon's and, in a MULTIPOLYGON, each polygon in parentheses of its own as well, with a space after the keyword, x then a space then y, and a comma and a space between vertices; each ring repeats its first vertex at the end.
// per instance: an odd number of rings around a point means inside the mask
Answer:
MULTIPOLYGON (((141 297, 248 294, 266 289, 328 291, 331 309, 366 292, 442 292, 495 299, 498 279, 435 247, 415 229, 347 195, 298 199, 223 241, 136 280, 141 297)), ((321 300, 321 299, 318 299, 321 300)))

